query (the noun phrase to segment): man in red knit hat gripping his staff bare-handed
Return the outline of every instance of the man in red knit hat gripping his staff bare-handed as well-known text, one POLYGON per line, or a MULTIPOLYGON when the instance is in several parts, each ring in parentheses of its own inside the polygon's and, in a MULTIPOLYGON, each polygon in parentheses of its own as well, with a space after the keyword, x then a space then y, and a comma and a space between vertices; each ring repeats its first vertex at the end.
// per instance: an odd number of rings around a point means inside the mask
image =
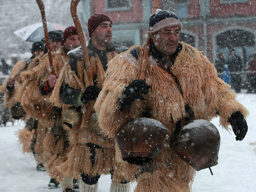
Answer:
POLYGON ((49 188, 56 188, 60 183, 63 191, 73 191, 73 179, 60 173, 55 166, 56 159, 61 159, 66 152, 68 140, 62 128, 66 125, 60 123, 62 109, 52 107, 49 98, 61 69, 69 61, 67 52, 80 46, 74 26, 65 29, 62 43, 63 46, 53 53, 53 66, 50 66, 47 53, 40 65, 22 74, 25 89, 21 97, 26 111, 38 120, 35 151, 44 155, 45 168, 51 177, 49 188))

